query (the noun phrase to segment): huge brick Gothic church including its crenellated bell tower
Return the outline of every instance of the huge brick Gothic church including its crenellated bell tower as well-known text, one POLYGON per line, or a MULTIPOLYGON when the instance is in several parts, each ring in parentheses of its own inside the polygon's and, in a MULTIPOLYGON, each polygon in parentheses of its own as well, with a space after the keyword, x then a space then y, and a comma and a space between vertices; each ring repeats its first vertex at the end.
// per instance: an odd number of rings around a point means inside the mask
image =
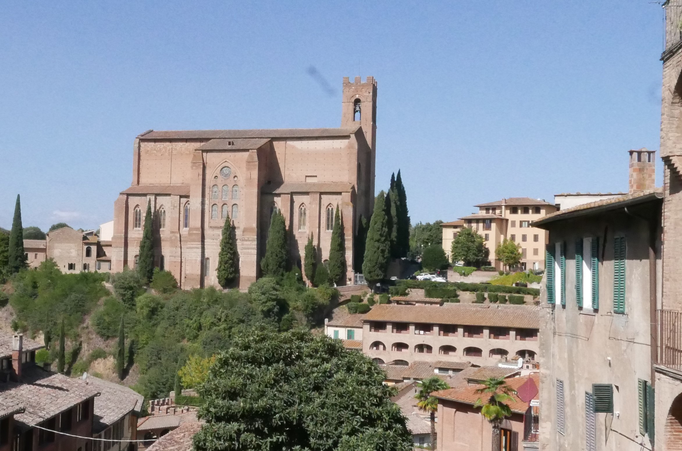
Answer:
POLYGON ((218 286, 226 217, 246 288, 260 275, 273 211, 284 214, 291 262, 301 266, 311 234, 327 260, 338 205, 352 281, 357 224, 373 208, 375 135, 373 77, 344 78, 340 128, 145 131, 134 141, 132 185, 114 204, 112 271, 135 266, 148 202, 155 265, 185 289, 218 286))

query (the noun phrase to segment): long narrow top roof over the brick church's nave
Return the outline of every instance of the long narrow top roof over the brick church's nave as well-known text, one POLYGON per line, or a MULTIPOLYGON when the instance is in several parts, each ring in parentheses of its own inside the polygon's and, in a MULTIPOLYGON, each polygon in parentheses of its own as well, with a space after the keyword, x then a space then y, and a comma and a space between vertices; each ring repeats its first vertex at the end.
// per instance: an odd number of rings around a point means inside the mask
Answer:
POLYGON ((355 128, 290 128, 245 130, 150 130, 138 136, 142 140, 216 139, 216 138, 330 138, 350 136, 355 128))

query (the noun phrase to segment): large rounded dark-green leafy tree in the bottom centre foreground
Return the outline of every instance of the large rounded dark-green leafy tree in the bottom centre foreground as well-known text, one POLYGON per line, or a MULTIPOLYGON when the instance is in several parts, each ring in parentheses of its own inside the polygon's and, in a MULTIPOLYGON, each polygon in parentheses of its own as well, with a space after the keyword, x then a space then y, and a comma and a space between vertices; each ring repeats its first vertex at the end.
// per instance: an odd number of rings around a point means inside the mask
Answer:
POLYGON ((206 423, 194 450, 409 451, 412 435, 384 379, 339 340, 253 330, 218 356, 198 390, 206 423))

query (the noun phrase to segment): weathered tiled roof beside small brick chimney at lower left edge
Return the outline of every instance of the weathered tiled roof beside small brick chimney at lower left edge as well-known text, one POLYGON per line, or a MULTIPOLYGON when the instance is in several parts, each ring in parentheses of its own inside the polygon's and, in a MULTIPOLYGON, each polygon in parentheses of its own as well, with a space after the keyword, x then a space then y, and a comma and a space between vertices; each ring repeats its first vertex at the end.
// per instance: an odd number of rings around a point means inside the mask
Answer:
POLYGON ((24 407, 14 416, 18 422, 34 426, 97 395, 100 390, 86 382, 40 367, 23 369, 22 382, 0 385, 0 405, 16 402, 24 407))

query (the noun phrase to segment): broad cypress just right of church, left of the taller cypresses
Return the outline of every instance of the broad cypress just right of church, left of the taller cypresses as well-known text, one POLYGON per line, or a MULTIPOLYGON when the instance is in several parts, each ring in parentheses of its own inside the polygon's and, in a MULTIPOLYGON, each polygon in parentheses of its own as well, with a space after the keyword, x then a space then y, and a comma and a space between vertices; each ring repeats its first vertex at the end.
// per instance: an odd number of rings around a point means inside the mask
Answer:
POLYGON ((372 213, 370 229, 367 232, 362 273, 369 283, 376 283, 386 278, 386 269, 391 256, 385 200, 386 194, 381 191, 374 200, 374 213, 372 213))

